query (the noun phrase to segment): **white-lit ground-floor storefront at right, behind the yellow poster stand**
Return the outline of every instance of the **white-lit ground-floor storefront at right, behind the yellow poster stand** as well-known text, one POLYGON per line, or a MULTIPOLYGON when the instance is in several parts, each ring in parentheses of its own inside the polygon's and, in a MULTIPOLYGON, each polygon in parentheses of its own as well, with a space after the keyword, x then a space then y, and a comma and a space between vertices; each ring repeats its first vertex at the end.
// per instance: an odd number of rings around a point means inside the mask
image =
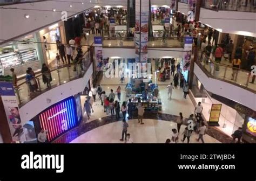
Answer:
POLYGON ((243 136, 244 140, 246 142, 255 142, 254 131, 256 132, 256 127, 254 127, 254 120, 256 114, 253 110, 246 108, 237 102, 208 92, 196 75, 193 76, 191 92, 194 104, 201 102, 201 105, 203 106, 203 116, 206 121, 210 121, 212 117, 212 106, 221 105, 219 113, 214 110, 214 114, 218 114, 217 117, 215 116, 217 120, 214 120, 219 124, 217 128, 231 136, 235 130, 241 127, 244 129, 245 133, 245 137, 243 136))

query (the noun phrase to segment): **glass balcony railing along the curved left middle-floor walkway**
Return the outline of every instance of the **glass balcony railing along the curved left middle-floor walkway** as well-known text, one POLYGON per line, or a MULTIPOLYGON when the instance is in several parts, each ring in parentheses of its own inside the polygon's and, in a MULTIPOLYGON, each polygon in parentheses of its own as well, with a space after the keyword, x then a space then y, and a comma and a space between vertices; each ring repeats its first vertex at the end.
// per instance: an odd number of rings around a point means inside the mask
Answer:
MULTIPOLYGON (((19 103, 19 107, 22 107, 25 105, 25 103, 29 102, 30 100, 36 98, 37 96, 41 95, 42 93, 49 91, 52 88, 55 88, 57 86, 63 85, 64 83, 67 83, 69 81, 75 80, 82 78, 83 75, 86 73, 86 70, 90 67, 91 65, 91 58, 90 58, 90 53, 89 51, 86 51, 83 54, 83 62, 82 64, 72 64, 71 66, 69 65, 61 65, 57 67, 52 67, 50 69, 51 72, 51 86, 48 87, 46 83, 43 82, 43 74, 39 73, 35 76, 36 81, 36 92, 31 93, 30 88, 29 88, 29 82, 24 81, 22 83, 19 83, 15 87, 15 94, 16 98, 19 103), (82 70, 83 66, 83 70, 82 70), (76 67, 76 71, 75 71, 76 67)), ((1 79, 0 81, 10 81, 10 79, 1 79)))

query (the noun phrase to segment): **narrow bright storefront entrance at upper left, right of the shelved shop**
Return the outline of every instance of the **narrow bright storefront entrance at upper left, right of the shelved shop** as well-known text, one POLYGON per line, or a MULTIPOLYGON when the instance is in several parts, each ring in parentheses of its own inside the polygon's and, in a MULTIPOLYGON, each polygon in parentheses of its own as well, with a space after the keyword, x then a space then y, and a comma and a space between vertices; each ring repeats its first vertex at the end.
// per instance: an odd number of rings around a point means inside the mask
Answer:
POLYGON ((64 23, 58 22, 39 31, 41 42, 44 42, 42 48, 45 60, 47 60, 46 64, 51 64, 56 58, 56 53, 58 53, 56 42, 66 43, 64 30, 64 23))

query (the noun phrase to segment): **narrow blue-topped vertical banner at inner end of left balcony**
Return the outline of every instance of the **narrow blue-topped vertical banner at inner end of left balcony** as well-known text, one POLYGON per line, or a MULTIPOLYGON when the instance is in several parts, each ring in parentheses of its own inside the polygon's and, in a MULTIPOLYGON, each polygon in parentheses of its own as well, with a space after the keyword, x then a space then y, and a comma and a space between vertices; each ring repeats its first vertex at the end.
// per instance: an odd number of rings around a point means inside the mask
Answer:
POLYGON ((102 37, 94 37, 96 71, 103 71, 102 37))

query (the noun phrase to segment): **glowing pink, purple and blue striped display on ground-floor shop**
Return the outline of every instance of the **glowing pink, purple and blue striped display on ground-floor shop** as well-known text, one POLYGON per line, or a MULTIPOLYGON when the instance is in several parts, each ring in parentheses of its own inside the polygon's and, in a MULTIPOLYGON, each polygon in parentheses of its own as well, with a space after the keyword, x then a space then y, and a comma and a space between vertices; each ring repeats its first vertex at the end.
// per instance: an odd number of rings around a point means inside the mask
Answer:
POLYGON ((77 126, 76 105, 73 97, 65 99, 39 114, 40 126, 48 130, 48 141, 77 126))

